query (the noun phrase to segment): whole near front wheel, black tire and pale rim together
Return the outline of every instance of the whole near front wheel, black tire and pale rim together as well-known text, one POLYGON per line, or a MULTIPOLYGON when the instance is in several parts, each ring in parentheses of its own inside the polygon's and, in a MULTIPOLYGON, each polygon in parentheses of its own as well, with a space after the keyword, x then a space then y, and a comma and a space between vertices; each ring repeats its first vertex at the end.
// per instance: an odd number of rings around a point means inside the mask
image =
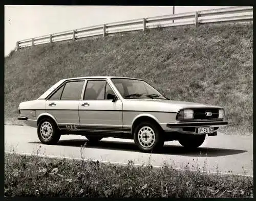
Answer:
POLYGON ((134 129, 134 142, 141 152, 157 153, 163 147, 164 139, 161 135, 161 129, 156 123, 145 121, 138 124, 134 129))

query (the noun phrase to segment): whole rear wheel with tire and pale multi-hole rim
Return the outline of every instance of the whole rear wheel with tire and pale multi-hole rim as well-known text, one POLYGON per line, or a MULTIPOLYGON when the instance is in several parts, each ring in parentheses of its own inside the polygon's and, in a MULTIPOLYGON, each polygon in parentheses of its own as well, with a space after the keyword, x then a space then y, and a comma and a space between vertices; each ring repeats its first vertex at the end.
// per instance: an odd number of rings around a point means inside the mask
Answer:
POLYGON ((60 138, 60 132, 52 119, 45 118, 40 120, 37 126, 37 136, 44 144, 57 144, 60 138))

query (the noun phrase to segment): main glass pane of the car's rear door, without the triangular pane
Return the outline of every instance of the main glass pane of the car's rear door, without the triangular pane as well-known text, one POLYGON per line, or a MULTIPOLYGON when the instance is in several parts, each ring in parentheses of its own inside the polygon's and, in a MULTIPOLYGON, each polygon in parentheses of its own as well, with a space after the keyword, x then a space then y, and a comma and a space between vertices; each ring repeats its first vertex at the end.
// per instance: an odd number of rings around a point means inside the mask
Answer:
POLYGON ((84 81, 68 82, 63 89, 61 100, 80 100, 84 81))

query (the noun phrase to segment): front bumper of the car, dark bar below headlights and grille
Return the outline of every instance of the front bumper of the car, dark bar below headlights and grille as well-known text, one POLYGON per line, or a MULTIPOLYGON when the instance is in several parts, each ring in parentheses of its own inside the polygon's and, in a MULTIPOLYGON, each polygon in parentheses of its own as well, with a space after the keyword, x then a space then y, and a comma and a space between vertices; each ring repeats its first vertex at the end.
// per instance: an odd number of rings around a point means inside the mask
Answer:
POLYGON ((199 121, 199 122, 175 122, 167 123, 166 127, 172 129, 180 129, 187 127, 224 127, 228 124, 228 121, 199 121))

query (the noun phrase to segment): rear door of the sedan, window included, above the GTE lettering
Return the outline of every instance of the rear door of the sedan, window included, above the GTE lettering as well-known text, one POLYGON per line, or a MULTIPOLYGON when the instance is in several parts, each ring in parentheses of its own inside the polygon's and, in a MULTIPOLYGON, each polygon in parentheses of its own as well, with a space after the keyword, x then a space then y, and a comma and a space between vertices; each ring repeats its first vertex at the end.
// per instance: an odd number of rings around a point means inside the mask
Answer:
POLYGON ((83 80, 72 80, 63 83, 46 101, 46 112, 51 114, 60 129, 79 129, 79 103, 84 86, 83 80))

